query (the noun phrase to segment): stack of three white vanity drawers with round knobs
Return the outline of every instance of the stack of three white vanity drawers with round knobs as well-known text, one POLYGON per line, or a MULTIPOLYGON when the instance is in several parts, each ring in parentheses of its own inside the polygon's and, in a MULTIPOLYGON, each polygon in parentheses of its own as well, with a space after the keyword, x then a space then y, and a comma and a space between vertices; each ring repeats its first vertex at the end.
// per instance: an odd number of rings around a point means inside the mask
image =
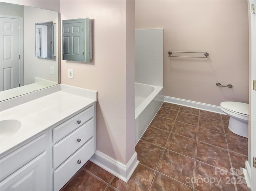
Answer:
POLYGON ((95 153, 95 104, 52 132, 53 189, 58 191, 95 153))

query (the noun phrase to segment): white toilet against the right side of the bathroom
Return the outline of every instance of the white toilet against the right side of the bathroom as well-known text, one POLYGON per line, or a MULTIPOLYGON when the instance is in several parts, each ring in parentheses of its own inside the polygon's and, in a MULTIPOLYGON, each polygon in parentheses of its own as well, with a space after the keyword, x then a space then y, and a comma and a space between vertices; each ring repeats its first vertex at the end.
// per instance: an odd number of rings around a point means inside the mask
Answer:
POLYGON ((249 104, 224 101, 220 103, 220 109, 230 116, 228 129, 235 134, 248 138, 249 104))

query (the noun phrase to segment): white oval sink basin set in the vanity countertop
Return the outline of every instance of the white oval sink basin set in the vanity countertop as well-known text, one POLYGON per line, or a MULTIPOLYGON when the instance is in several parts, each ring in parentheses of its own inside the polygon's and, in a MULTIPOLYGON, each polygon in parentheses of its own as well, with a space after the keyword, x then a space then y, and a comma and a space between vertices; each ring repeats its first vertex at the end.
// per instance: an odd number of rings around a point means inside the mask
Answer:
POLYGON ((14 135, 21 126, 21 122, 18 120, 2 120, 0 121, 0 138, 8 138, 14 135))

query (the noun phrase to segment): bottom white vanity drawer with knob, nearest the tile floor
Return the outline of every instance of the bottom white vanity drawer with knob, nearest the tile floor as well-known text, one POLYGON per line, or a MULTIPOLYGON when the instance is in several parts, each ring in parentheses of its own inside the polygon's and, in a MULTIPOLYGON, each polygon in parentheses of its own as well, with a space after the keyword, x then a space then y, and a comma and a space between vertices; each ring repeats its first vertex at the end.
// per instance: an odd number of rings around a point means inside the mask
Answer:
POLYGON ((94 138, 90 139, 62 165, 53 171, 54 191, 60 190, 68 180, 88 161, 94 154, 94 138), (79 164, 80 163, 80 164, 79 164))

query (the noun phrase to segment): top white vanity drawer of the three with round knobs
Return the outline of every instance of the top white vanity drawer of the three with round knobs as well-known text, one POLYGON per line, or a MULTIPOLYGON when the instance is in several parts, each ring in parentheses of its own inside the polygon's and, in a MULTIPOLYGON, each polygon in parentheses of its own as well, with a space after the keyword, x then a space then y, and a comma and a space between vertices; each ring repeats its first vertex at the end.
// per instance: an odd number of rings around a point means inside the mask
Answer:
POLYGON ((56 143, 58 140, 62 139, 64 136, 74 131, 76 128, 84 124, 93 116, 94 116, 94 105, 90 106, 88 109, 77 114, 76 116, 60 124, 59 126, 53 128, 53 142, 56 143))

